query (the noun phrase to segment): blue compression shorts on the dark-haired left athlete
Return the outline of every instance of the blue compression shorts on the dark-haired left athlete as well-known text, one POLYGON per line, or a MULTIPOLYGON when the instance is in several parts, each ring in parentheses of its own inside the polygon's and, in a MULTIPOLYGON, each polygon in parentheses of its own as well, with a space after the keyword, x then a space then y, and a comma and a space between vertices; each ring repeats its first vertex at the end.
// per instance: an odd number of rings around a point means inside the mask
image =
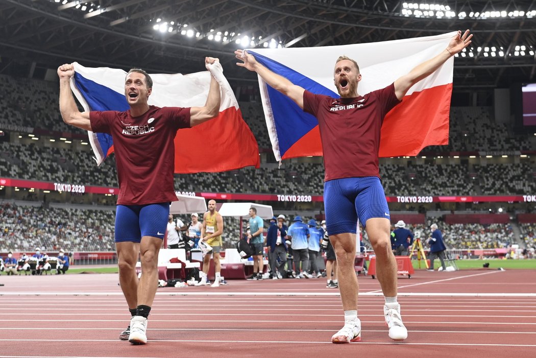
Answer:
POLYGON ((143 236, 163 239, 166 234, 169 203, 117 205, 115 242, 140 242, 143 236))

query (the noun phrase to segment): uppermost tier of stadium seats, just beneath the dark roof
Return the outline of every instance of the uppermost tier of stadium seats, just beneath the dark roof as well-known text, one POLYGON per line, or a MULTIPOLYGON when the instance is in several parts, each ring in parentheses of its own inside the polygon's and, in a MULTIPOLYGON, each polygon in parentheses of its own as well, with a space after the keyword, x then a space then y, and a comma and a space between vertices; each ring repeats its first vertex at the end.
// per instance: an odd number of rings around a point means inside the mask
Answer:
MULTIPOLYGON (((59 115, 58 96, 55 82, 0 74, 0 130, 13 130, 13 126, 18 126, 31 129, 30 132, 38 129, 40 132, 74 133, 77 137, 85 135, 84 131, 63 123, 59 115)), ((240 102, 240 107, 260 150, 271 151, 260 102, 240 102)), ((506 124, 496 123, 492 107, 452 107, 449 145, 430 146, 423 152, 531 150, 534 148, 533 137, 532 133, 516 135, 506 124)))

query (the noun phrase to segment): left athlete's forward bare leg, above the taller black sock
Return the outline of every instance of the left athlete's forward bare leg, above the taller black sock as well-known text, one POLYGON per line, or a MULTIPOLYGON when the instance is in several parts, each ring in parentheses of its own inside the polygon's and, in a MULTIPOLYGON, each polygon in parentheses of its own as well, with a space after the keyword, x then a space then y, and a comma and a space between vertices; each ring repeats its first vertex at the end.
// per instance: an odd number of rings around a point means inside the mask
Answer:
POLYGON ((151 307, 158 287, 158 252, 162 239, 143 236, 140 243, 140 258, 142 261, 142 278, 138 284, 138 305, 151 307))

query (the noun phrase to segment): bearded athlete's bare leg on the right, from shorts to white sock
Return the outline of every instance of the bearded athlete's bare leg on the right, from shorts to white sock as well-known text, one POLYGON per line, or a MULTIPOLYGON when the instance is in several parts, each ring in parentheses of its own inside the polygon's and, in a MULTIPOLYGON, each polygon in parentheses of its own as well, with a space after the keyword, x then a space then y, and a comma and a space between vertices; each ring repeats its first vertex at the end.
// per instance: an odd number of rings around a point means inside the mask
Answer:
POLYGON ((376 254, 376 276, 384 296, 397 295, 397 263, 391 250, 390 221, 371 218, 366 222, 367 235, 376 254))

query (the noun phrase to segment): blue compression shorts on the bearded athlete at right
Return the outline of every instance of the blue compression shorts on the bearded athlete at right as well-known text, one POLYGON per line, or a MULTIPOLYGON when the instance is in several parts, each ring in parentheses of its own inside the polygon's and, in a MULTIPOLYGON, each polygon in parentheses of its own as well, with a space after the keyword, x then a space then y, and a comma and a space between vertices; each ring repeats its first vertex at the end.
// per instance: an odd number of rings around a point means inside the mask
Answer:
POLYGON ((324 183, 326 229, 330 235, 356 233, 370 218, 390 220, 385 192, 377 176, 333 179, 324 183))

